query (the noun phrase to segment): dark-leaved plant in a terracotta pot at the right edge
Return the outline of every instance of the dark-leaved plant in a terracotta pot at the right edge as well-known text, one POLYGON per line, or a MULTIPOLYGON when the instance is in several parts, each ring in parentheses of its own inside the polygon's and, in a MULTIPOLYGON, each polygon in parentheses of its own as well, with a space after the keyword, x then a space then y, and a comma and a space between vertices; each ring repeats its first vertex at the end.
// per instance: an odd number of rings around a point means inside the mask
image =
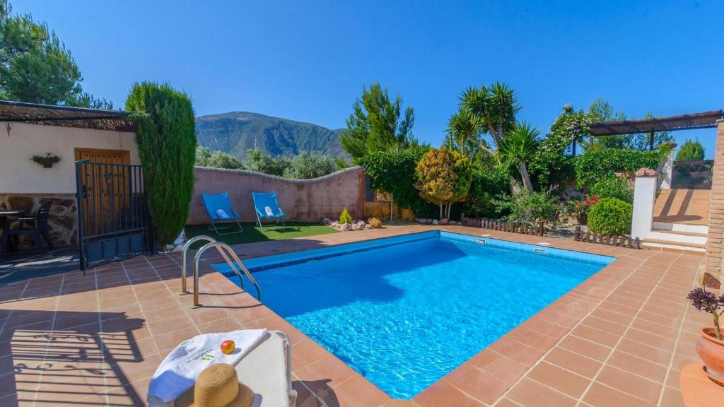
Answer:
POLYGON ((691 290, 686 298, 697 311, 712 314, 714 327, 702 328, 701 337, 696 342, 696 353, 702 358, 710 379, 724 385, 724 340, 722 338, 719 317, 724 314, 724 294, 716 295, 707 288, 718 290, 721 286, 712 274, 704 273, 702 287, 691 290))

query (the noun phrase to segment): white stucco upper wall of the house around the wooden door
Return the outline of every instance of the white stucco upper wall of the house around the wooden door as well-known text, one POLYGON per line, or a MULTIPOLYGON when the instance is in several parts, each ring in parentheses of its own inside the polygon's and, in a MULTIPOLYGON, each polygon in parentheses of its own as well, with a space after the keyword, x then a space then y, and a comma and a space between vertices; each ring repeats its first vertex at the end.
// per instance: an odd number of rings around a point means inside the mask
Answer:
POLYGON ((75 148, 130 151, 131 164, 140 164, 135 133, 75 127, 0 123, 0 194, 75 193, 75 148), (30 161, 34 154, 61 158, 52 168, 30 161))

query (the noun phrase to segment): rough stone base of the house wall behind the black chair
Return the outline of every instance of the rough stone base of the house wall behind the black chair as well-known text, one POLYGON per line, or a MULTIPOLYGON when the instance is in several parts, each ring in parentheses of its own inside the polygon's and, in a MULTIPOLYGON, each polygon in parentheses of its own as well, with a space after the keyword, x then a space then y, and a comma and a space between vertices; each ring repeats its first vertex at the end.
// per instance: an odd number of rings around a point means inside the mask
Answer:
MULTIPOLYGON (((35 214, 38 206, 52 200, 48 225, 54 246, 74 246, 78 243, 78 222, 75 193, 0 193, 0 209, 20 209, 35 214)), ((4 225, 0 225, 0 228, 4 225)), ((23 235, 20 248, 33 247, 33 239, 23 235)), ((44 244, 44 243, 43 243, 44 244)))

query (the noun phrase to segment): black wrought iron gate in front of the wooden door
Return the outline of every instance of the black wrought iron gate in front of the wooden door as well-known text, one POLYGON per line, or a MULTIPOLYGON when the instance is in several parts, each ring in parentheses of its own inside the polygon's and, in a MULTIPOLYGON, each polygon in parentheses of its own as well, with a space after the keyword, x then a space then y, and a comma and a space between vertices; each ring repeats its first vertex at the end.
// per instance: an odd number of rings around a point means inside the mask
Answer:
POLYGON ((80 269, 156 250, 140 165, 80 160, 75 181, 80 269))

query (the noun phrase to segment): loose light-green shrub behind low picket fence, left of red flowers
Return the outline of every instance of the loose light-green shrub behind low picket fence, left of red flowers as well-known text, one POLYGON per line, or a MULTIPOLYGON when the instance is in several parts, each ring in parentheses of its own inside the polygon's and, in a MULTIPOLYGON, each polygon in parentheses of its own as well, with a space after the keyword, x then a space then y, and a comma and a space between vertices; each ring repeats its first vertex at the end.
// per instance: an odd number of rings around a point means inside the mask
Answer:
POLYGON ((523 188, 513 196, 500 197, 495 204, 498 211, 510 213, 506 217, 510 222, 537 223, 555 218, 560 211, 557 201, 550 188, 541 192, 529 192, 523 188))

